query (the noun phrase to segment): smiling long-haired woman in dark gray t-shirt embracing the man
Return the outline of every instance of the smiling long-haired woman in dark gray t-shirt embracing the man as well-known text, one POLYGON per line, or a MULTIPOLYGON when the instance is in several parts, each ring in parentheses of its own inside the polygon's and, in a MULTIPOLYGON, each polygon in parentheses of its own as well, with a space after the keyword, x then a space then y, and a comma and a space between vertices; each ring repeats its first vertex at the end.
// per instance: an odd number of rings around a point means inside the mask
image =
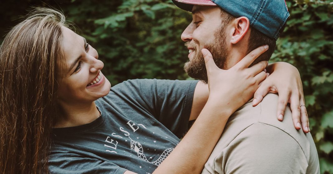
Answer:
MULTIPOLYGON (((202 53, 211 63, 211 54, 202 53)), ((246 56, 226 71, 206 64, 208 86, 145 79, 110 89, 97 51, 66 27, 61 13, 43 8, 7 34, 0 54, 0 169, 6 174, 200 173, 229 116, 266 78, 267 65, 247 68, 255 58, 246 56)))

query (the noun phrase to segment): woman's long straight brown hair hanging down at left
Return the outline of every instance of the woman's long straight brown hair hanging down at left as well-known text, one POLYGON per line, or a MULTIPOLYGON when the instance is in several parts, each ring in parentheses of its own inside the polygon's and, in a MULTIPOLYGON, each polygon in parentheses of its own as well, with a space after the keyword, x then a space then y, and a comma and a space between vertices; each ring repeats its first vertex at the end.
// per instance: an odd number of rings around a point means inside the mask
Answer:
POLYGON ((0 172, 47 173, 64 15, 36 8, 0 46, 0 172))

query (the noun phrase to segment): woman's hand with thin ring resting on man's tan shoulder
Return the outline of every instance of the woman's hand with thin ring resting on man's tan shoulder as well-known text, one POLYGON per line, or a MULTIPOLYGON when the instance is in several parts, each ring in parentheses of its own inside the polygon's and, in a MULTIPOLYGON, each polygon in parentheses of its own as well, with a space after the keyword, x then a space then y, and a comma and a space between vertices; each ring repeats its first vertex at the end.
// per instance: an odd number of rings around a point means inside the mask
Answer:
POLYGON ((260 103, 267 93, 278 93, 278 120, 283 120, 286 106, 290 103, 295 128, 300 130, 302 127, 304 133, 310 132, 302 81, 297 68, 289 63, 277 62, 269 65, 267 67, 267 72, 271 72, 271 74, 256 90, 252 105, 256 106, 260 103))

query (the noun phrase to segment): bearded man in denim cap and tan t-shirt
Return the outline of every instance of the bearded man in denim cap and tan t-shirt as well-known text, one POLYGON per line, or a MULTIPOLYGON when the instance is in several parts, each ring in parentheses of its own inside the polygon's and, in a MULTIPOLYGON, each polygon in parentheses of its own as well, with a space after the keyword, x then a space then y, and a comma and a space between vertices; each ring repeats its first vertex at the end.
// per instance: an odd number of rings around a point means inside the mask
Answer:
MULTIPOLYGON (((209 83, 207 60, 202 53, 209 52, 203 48, 211 52, 221 69, 231 68, 251 50, 265 44, 269 46, 268 51, 253 64, 268 61, 289 17, 282 0, 173 2, 181 9, 191 11, 193 17, 181 35, 189 49, 189 61, 184 69, 189 76, 205 83, 209 83)), ((250 102, 229 118, 202 173, 319 174, 313 139, 310 134, 294 129, 290 108, 286 109, 282 123, 276 120, 277 95, 266 95, 255 107, 250 102)), ((298 108, 302 110, 305 106, 298 108)))

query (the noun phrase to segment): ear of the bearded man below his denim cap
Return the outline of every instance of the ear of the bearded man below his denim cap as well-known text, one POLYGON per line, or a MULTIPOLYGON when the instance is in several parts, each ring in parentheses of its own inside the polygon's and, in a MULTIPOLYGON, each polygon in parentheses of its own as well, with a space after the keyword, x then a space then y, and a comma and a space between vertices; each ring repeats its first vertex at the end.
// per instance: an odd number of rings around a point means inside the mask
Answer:
POLYGON ((250 28, 250 22, 249 19, 246 18, 245 16, 233 20, 232 21, 233 34, 231 36, 230 43, 232 44, 238 43, 247 33, 249 28, 250 28))

